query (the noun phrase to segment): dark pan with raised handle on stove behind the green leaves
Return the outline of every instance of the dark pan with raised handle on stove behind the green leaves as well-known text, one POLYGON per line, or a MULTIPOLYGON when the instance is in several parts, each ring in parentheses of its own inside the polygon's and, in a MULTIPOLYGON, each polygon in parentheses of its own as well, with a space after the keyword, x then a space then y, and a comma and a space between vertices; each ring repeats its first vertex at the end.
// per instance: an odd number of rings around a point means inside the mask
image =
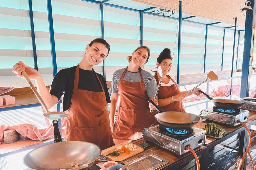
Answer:
POLYGON ((240 101, 240 100, 231 100, 231 99, 213 99, 208 94, 204 93, 203 91, 199 90, 199 92, 203 93, 210 101, 214 104, 214 106, 223 109, 239 109, 245 103, 249 101, 240 101))

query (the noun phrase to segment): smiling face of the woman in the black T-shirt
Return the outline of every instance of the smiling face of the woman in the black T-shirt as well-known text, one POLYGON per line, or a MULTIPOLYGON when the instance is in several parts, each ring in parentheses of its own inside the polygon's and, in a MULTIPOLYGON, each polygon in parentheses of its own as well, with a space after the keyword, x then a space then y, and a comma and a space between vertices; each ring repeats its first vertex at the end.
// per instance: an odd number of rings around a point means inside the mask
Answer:
POLYGON ((98 65, 108 55, 107 47, 99 42, 87 45, 85 51, 85 58, 90 66, 98 65))

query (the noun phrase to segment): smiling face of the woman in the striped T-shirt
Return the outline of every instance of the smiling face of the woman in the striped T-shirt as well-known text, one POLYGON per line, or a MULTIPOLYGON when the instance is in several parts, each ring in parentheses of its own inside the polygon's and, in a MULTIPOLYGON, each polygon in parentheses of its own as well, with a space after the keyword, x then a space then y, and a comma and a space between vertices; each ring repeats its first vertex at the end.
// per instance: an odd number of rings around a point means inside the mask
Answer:
POLYGON ((132 53, 132 59, 130 63, 134 63, 136 66, 142 66, 147 63, 148 50, 140 48, 132 53))

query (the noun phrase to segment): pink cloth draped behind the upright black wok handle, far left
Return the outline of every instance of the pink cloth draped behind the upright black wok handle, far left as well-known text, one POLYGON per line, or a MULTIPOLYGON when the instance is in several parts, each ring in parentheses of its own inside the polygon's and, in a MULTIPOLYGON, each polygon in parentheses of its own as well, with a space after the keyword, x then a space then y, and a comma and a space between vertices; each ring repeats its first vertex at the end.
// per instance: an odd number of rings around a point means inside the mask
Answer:
MULTIPOLYGON (((62 127, 65 126, 66 119, 62 119, 62 127)), ((22 136, 28 137, 32 140, 47 140, 53 137, 53 125, 50 124, 48 128, 38 129, 36 126, 31 124, 19 124, 14 126, 5 127, 4 124, 0 126, 0 144, 3 143, 4 131, 9 129, 15 129, 22 136)))

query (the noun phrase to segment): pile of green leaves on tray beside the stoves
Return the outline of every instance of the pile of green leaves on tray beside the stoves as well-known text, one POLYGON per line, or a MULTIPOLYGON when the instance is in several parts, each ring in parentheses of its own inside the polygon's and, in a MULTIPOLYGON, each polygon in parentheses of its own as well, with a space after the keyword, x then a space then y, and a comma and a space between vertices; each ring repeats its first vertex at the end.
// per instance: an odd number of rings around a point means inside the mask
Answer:
POLYGON ((209 123, 205 125, 205 131, 207 136, 222 137, 226 134, 225 130, 215 123, 209 123))

